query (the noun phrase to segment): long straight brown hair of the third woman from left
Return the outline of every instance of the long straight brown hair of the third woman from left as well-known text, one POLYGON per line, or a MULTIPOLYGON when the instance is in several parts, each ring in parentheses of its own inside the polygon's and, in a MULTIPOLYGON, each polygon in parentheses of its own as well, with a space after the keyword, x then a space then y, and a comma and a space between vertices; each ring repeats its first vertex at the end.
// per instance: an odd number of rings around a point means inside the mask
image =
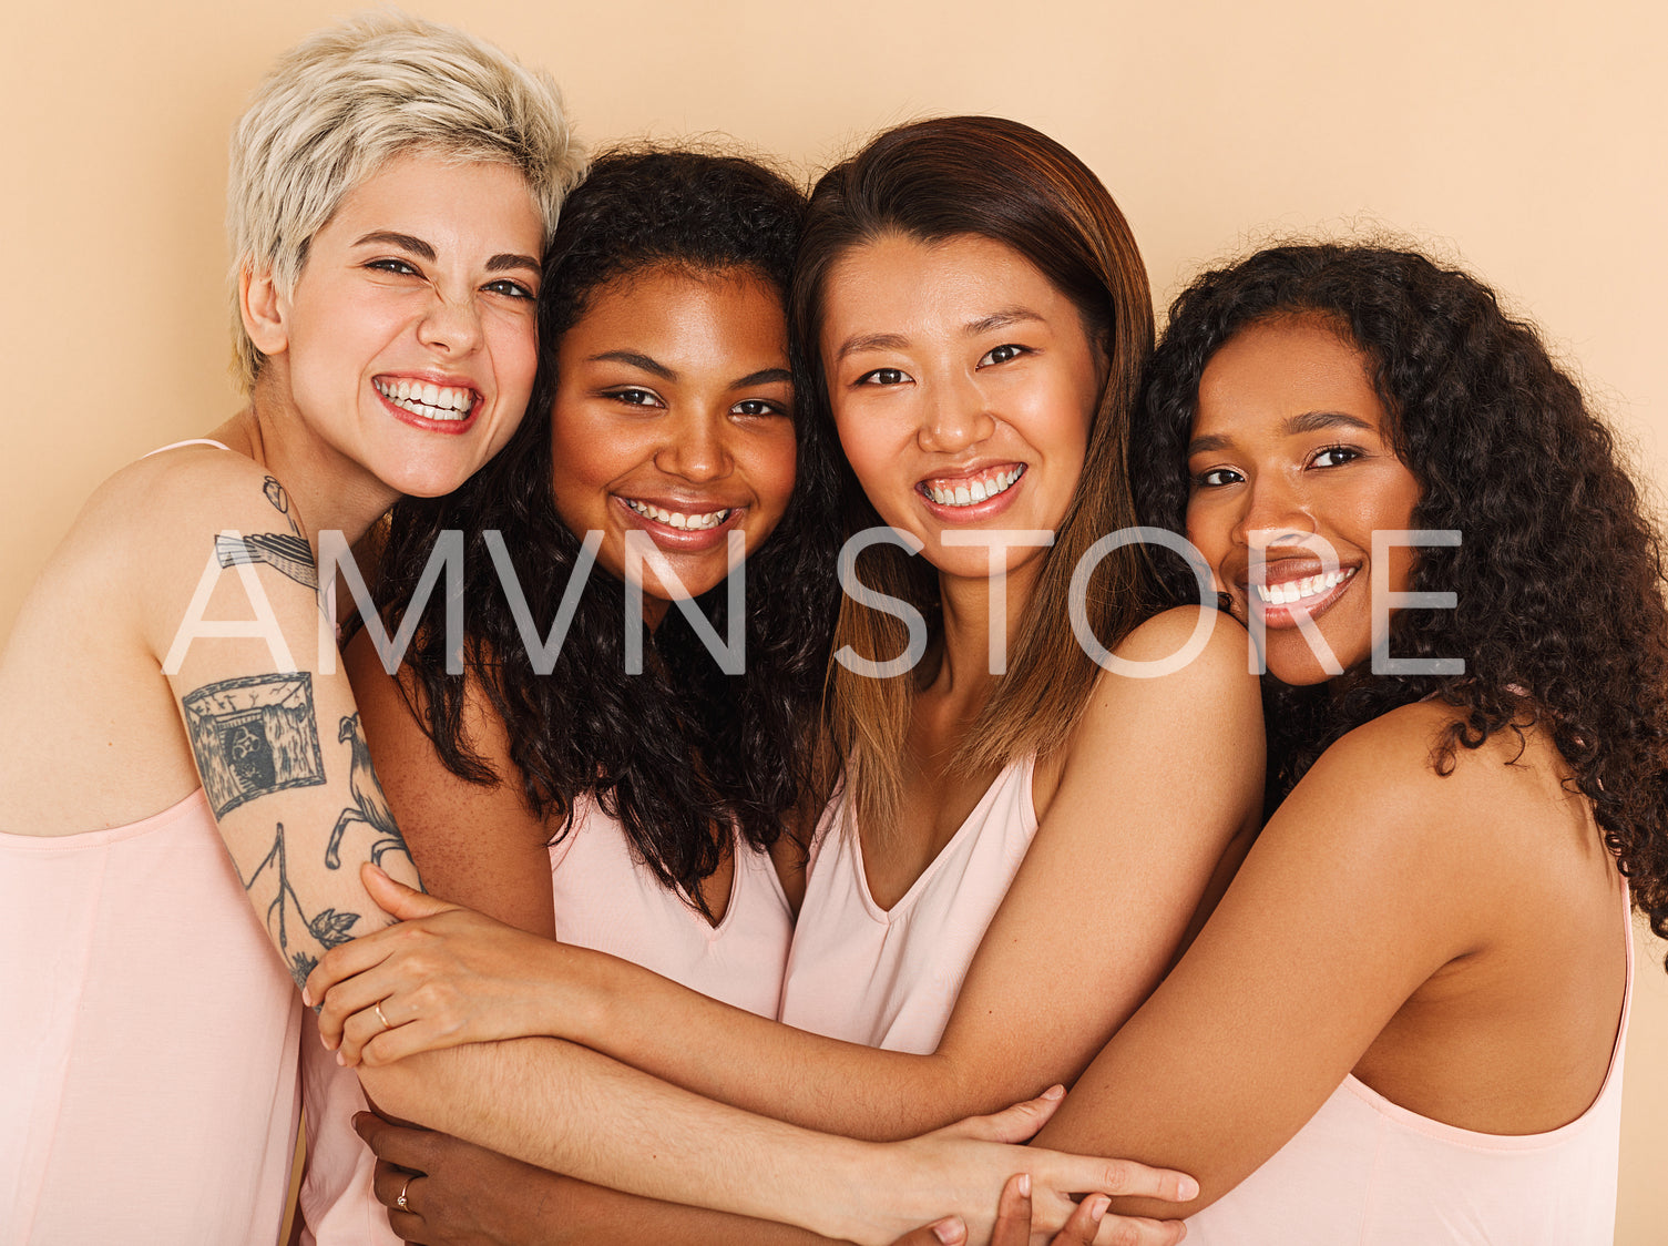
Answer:
MULTIPOLYGON (((1089 427, 1078 492, 1044 555, 1036 592, 1014 629, 1007 674, 972 722, 952 761, 972 774, 1058 749, 1088 704, 1098 666, 1071 627, 1069 592, 1089 547, 1136 524, 1128 459, 1129 424, 1141 374, 1153 354, 1153 297, 1129 224, 1101 180, 1048 135, 999 117, 941 117, 874 138, 836 165, 811 193, 811 214, 794 269, 791 310, 802 357, 814 372, 812 400, 832 420, 821 364, 829 272, 854 247, 884 235, 939 242, 979 235, 1011 247, 1078 307, 1084 330, 1108 364, 1089 427)), ((846 535, 882 524, 851 469, 844 475, 846 535)), ((937 575, 896 545, 872 545, 857 560, 859 579, 919 609, 941 627, 937 575)), ((1159 600, 1148 557, 1123 545, 1089 580, 1088 620, 1111 649, 1159 600)), ((904 652, 904 620, 841 599, 836 651, 851 646, 871 661, 904 652)), ((916 696, 914 674, 871 679, 832 662, 826 696, 824 782, 842 767, 857 816, 894 826, 902 794, 904 744, 916 696)))

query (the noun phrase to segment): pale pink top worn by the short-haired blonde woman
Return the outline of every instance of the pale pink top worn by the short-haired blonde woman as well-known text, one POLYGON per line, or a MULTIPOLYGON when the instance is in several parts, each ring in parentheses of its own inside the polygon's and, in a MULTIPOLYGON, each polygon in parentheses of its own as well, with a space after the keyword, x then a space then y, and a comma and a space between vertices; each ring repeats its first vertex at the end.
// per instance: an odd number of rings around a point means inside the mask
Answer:
POLYGON ((300 999, 202 791, 0 834, 0 1243, 277 1241, 300 999))

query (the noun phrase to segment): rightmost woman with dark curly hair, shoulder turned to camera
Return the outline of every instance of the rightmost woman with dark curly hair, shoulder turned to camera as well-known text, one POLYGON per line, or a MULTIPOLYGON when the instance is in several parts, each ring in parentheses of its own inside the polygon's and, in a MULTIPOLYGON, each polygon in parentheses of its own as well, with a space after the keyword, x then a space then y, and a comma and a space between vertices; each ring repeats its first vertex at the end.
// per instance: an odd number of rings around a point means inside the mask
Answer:
POLYGON ((1611 434, 1485 285, 1373 247, 1203 275, 1149 375, 1144 517, 1263 639, 1278 809, 1042 1141, 1196 1174, 1193 1243, 1608 1243, 1630 886, 1668 924, 1611 434))

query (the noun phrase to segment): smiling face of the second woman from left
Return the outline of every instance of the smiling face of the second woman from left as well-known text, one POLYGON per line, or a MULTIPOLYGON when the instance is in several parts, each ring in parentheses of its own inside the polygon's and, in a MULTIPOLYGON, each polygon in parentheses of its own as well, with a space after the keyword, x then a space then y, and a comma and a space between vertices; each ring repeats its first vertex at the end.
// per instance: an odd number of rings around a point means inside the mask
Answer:
POLYGON ((557 514, 574 532, 602 532, 597 564, 642 580, 651 620, 672 597, 724 580, 729 532, 752 550, 782 517, 794 487, 792 374, 782 299, 764 280, 651 269, 610 282, 562 335, 557 377, 557 514), (679 530, 629 502, 729 514, 679 530), (627 567, 627 532, 647 535, 661 560, 627 567))

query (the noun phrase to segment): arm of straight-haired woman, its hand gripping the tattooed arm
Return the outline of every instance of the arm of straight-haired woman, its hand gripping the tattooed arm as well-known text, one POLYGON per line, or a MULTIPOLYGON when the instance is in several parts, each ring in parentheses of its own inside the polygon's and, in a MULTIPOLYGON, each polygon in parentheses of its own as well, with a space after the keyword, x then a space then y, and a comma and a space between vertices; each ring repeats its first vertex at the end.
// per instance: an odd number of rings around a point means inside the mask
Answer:
MULTIPOLYGON (((1181 647, 1196 617, 1153 619, 1119 654, 1161 659, 1181 647)), ((387 1059, 419 1037, 437 1044, 537 1029, 749 1111, 876 1139, 1069 1083, 1156 986, 1218 861, 1261 806, 1261 702, 1244 632, 1221 615, 1214 624, 1204 652, 1183 669, 1098 682, 1053 804, 932 1054, 807 1034, 572 947, 527 944, 494 962, 450 961, 455 972, 437 972, 444 961, 429 952, 399 974, 370 967, 382 947, 422 944, 417 926, 327 962, 320 981, 370 972, 332 992, 325 1032, 405 977, 412 986, 455 979, 457 997, 430 996, 410 1027, 374 1037, 380 1024, 349 1024, 349 1051, 370 1039, 365 1056, 375 1063, 379 1048, 387 1059), (480 1006, 489 991, 514 1001, 514 1016, 509 1002, 499 1009, 495 1032, 480 1029, 492 1022, 480 1006)), ((444 921, 460 929, 467 917, 444 921)))

